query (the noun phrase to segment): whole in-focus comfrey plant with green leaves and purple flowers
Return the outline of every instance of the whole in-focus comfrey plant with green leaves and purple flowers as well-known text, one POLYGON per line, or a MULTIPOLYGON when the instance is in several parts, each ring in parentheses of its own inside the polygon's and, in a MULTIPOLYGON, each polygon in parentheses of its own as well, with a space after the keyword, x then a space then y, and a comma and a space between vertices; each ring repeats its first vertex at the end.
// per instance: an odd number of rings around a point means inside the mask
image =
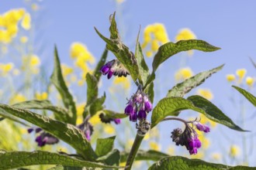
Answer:
POLYGON ((57 48, 55 48, 54 53, 54 72, 50 80, 61 94, 64 107, 54 106, 49 100, 28 100, 12 106, 0 104, 0 115, 2 117, 19 123, 22 122, 22 124, 24 122, 20 119, 34 124, 36 128, 28 128, 28 132, 33 133, 35 131, 35 141, 38 146, 43 147, 44 145, 53 145, 58 141, 64 141, 74 148, 76 153, 64 153, 63 151, 0 151, 0 169, 20 168, 29 165, 57 165, 51 169, 131 169, 135 159, 141 161, 160 160, 150 165, 149 169, 247 169, 245 166, 231 167, 181 156, 170 156, 159 151, 139 151, 144 135, 150 129, 155 128, 157 124, 163 121, 182 121, 185 124, 185 128, 174 127, 173 131, 170 130, 170 142, 172 140, 175 145, 185 146, 191 155, 198 153, 203 144, 199 141, 195 130, 208 133, 210 129, 197 119, 185 121, 178 117, 182 110, 195 110, 206 115, 210 120, 223 124, 228 128, 236 131, 244 130, 234 124, 229 117, 223 114, 209 100, 197 95, 184 98, 185 93, 189 93, 192 88, 199 86, 213 73, 221 70, 223 66, 198 73, 182 83, 176 84, 175 87, 168 90, 166 97, 154 104, 155 72, 161 63, 182 51, 198 49, 204 52, 212 52, 220 48, 197 39, 165 43, 157 50, 152 63, 152 71, 150 72, 140 47, 139 36, 137 37, 136 50, 133 53, 119 38, 115 13, 112 15, 110 22, 110 38, 102 36, 95 29, 100 38, 106 42, 106 50, 95 71, 86 75, 87 101, 83 112, 84 121, 81 124, 75 124, 77 110, 61 73, 57 48), (108 51, 111 51, 116 56, 116 59, 106 63, 108 51), (126 107, 123 104, 123 113, 116 113, 116 111, 107 110, 104 107, 106 95, 99 97, 98 90, 101 75, 107 75, 108 79, 112 76, 130 75, 134 83, 137 84, 137 91, 131 97, 126 97, 127 103, 126 107), (54 117, 50 118, 43 114, 36 114, 30 109, 50 110, 54 113, 54 117), (130 121, 136 122, 136 127, 134 128, 137 128, 137 135, 130 151, 113 149, 115 136, 98 138, 95 148, 92 147, 90 139, 94 135, 94 131, 92 124, 89 124, 88 120, 97 112, 101 112, 99 117, 103 123, 120 124, 122 118, 128 118, 130 121), (150 112, 152 112, 151 117, 148 116, 150 112), (126 165, 121 167, 119 166, 120 163, 126 163, 126 165))

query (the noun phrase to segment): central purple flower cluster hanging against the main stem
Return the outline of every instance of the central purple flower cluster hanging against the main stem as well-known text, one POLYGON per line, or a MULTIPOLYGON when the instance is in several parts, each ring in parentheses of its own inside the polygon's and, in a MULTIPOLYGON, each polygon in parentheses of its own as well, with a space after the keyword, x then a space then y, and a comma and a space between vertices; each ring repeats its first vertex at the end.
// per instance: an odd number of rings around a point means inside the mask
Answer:
POLYGON ((147 113, 152 110, 152 104, 147 94, 138 90, 127 103, 124 113, 130 117, 130 121, 140 121, 147 118, 147 113))

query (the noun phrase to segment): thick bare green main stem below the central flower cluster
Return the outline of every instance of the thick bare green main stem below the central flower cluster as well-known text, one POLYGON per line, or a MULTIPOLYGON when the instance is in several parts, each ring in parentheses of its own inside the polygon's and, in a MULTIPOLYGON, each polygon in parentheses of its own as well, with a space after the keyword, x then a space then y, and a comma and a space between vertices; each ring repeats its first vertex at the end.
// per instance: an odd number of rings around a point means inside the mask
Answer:
POLYGON ((137 155, 137 151, 140 148, 140 144, 141 144, 141 141, 143 140, 143 138, 144 138, 144 136, 140 136, 138 134, 136 135, 136 138, 133 142, 133 147, 130 150, 130 154, 127 158, 126 168, 124 170, 130 170, 130 168, 132 168, 134 158, 137 155))

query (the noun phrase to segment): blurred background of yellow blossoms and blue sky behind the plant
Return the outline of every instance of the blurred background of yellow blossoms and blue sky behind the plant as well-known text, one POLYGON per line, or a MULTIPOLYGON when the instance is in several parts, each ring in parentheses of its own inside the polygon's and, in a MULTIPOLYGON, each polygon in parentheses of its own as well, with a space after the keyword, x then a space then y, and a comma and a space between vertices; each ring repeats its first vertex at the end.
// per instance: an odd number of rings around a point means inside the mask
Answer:
MULTIPOLYGON (((185 110, 181 117, 188 120, 200 117, 201 122, 209 124, 211 128, 209 134, 199 134, 202 148, 197 155, 189 155, 185 148, 175 146, 171 141, 171 131, 182 128, 182 124, 175 121, 163 122, 150 131, 141 148, 155 149, 169 155, 201 158, 208 162, 256 166, 256 110, 231 87, 237 85, 255 93, 256 68, 251 62, 256 62, 255 7, 256 2, 253 0, 2 0, 0 101, 3 104, 15 104, 23 100, 48 99, 54 104, 61 104, 57 90, 50 84, 56 45, 66 83, 74 95, 80 114, 77 123, 81 123, 81 113, 86 102, 85 74, 92 72, 106 46, 94 27, 104 36, 109 36, 109 15, 116 11, 121 39, 132 51, 140 29, 140 43, 149 66, 158 46, 169 41, 202 39, 221 48, 214 53, 195 50, 178 53, 162 64, 155 80, 154 105, 166 96, 175 83, 224 63, 223 70, 188 95, 206 97, 241 128, 251 131, 233 131, 209 121, 202 114, 185 110)), ((109 53, 108 60, 111 59, 114 56, 109 53)), ((130 98, 136 90, 130 78, 115 77, 107 80, 106 76, 102 76, 99 95, 106 92, 106 108, 123 113, 126 98, 130 98)), ((42 114, 52 116, 46 112, 42 114)), ((116 148, 129 151, 136 134, 134 123, 122 120, 119 125, 100 124, 97 116, 92 117, 91 123, 95 126, 92 143, 97 138, 117 135, 116 148)), ((9 151, 73 151, 64 142, 38 148, 34 142, 35 136, 27 134, 26 128, 12 121, 0 121, 0 148, 9 151)), ((150 164, 147 162, 147 165, 150 164)), ((137 162, 137 167, 140 166, 146 165, 137 162)))

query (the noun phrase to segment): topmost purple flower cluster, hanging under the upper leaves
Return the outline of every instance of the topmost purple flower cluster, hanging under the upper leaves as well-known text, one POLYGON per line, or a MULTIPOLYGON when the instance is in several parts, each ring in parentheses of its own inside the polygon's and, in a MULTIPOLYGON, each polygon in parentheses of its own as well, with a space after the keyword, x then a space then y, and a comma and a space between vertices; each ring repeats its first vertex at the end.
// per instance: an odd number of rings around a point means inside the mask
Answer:
POLYGON ((127 76, 129 75, 128 71, 126 68, 123 66, 122 63, 119 62, 118 59, 112 59, 108 63, 106 63, 104 66, 101 68, 101 72, 103 75, 108 74, 108 79, 114 76, 127 76))

